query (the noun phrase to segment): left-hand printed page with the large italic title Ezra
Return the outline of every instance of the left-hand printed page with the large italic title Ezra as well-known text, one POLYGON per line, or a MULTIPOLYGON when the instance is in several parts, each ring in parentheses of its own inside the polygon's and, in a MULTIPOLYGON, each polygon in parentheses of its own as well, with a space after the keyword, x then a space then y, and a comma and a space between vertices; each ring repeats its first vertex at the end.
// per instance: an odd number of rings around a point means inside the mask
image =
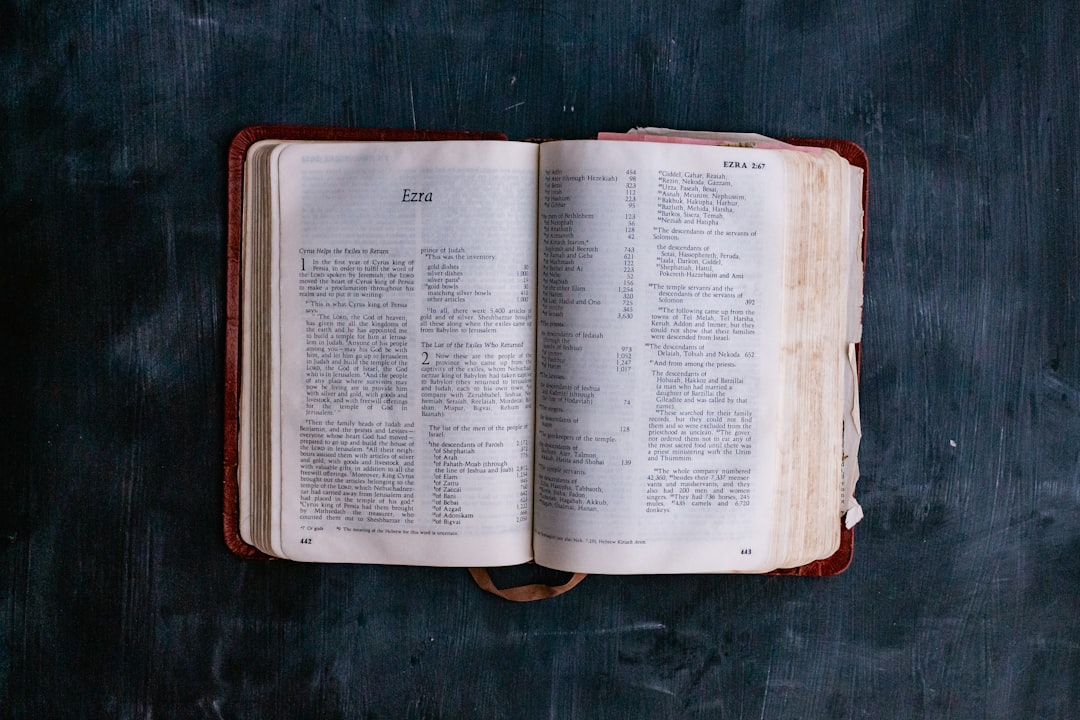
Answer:
POLYGON ((530 559, 537 164, 503 141, 275 151, 275 554, 530 559))

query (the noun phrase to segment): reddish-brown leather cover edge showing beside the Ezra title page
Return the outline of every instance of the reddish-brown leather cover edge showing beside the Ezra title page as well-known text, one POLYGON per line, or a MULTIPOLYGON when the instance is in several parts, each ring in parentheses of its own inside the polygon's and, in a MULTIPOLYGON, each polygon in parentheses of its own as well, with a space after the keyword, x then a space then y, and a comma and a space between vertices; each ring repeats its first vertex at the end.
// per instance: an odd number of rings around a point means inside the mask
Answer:
POLYGON ((243 227, 244 160, 259 140, 505 140, 501 133, 428 130, 365 130, 308 125, 254 125, 240 131, 229 145, 228 250, 225 321, 225 543, 243 558, 269 558, 240 536, 240 489, 237 459, 240 451, 240 267, 243 227))

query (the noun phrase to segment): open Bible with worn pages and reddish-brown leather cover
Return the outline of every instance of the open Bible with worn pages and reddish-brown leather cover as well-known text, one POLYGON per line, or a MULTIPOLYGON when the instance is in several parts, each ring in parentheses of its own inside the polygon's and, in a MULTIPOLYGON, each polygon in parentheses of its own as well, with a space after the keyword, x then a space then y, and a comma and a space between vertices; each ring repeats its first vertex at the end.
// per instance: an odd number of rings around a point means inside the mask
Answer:
POLYGON ((319 134, 233 145, 234 549, 769 572, 846 533, 850 558, 856 146, 319 134))

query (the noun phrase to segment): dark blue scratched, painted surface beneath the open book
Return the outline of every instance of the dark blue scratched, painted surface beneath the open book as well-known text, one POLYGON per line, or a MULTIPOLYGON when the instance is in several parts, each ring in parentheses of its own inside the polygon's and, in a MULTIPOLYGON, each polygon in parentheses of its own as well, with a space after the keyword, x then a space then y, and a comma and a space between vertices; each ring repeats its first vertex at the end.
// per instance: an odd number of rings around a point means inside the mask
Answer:
POLYGON ((1072 3, 578 4, 2 3, 0 715, 1080 717, 1072 3), (851 569, 518 606, 232 557, 226 148, 254 123, 861 144, 851 569))

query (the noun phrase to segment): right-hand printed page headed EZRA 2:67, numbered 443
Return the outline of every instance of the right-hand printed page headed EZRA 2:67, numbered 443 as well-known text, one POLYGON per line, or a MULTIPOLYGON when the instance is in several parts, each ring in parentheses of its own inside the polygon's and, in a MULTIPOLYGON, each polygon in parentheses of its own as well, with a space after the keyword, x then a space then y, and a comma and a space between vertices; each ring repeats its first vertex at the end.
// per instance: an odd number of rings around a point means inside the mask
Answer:
POLYGON ((784 172, 767 150, 544 144, 538 562, 774 567, 784 172))

